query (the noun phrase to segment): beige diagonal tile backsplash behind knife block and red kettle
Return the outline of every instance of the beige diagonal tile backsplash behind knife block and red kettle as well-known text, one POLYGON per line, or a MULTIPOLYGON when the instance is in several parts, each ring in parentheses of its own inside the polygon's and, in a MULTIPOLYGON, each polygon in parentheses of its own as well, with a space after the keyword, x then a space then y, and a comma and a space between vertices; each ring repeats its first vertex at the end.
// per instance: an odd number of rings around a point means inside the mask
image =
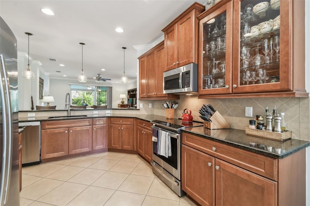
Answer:
MULTIPOLYGON (((164 100, 140 100, 144 104, 140 108, 141 113, 154 113, 165 116, 163 107, 164 100), (153 107, 148 108, 152 103, 153 107)), ((202 121, 199 117, 199 109, 202 104, 211 104, 230 123, 232 128, 245 130, 249 120, 255 119, 255 115, 265 115, 266 105, 269 112, 272 112, 274 105, 277 113, 285 113, 286 128, 292 131, 292 138, 310 141, 310 98, 236 98, 236 99, 198 99, 197 95, 180 96, 178 108, 174 117, 181 118, 185 108, 192 111, 194 120, 202 121), (245 107, 253 107, 253 118, 245 117, 245 107)))

